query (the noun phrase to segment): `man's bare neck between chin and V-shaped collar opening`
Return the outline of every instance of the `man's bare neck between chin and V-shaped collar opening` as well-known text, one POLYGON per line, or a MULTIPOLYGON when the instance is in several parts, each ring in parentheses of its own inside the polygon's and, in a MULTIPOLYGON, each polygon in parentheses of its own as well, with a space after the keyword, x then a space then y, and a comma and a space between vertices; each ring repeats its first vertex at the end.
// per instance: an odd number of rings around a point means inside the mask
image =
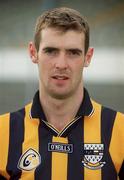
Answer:
POLYGON ((71 97, 55 99, 40 88, 40 102, 47 121, 61 131, 74 119, 83 99, 83 86, 71 97))

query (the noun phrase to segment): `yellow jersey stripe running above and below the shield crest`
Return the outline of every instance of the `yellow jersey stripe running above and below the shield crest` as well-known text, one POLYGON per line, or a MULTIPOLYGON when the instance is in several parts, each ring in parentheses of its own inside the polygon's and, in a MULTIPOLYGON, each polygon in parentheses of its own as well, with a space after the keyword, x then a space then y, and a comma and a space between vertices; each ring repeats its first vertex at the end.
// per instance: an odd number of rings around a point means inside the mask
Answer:
MULTIPOLYGON (((101 134, 100 134, 100 114, 101 107, 97 105, 95 102, 94 106, 94 114, 91 117, 84 118, 84 143, 89 144, 97 144, 101 143, 101 134)), ((101 180, 101 169, 92 170, 88 168, 84 168, 84 179, 86 180, 101 180)))

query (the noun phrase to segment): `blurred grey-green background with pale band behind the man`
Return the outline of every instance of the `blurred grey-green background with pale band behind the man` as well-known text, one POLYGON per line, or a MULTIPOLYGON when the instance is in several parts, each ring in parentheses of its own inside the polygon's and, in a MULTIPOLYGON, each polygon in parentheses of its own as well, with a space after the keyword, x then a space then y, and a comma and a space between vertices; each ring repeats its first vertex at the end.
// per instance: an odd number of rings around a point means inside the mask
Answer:
POLYGON ((1 0, 0 114, 32 100, 38 73, 28 55, 28 42, 36 18, 60 6, 79 10, 89 22, 95 55, 84 76, 92 98, 124 112, 124 0, 1 0))

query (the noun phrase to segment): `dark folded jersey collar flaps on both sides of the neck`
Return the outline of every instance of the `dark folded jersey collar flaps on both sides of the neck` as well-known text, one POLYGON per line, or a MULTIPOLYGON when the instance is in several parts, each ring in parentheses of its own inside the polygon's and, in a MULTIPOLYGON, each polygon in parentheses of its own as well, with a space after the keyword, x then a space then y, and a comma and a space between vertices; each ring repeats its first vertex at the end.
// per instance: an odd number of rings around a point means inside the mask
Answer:
MULTIPOLYGON (((90 100, 89 93, 84 88, 84 98, 75 117, 91 116, 93 112, 93 105, 90 100)), ((33 98, 30 115, 31 118, 39 118, 41 120, 47 121, 42 105, 40 104, 39 91, 36 92, 33 98)))

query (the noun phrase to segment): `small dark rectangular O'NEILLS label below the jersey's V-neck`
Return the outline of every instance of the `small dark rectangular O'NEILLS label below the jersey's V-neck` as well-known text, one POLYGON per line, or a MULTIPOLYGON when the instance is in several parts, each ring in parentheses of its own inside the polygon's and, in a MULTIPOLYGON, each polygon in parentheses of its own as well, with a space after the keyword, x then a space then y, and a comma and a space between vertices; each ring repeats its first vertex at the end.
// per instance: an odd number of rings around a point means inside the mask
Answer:
POLYGON ((48 143, 48 151, 60 152, 60 153, 72 153, 73 144, 63 144, 63 143, 48 143))

